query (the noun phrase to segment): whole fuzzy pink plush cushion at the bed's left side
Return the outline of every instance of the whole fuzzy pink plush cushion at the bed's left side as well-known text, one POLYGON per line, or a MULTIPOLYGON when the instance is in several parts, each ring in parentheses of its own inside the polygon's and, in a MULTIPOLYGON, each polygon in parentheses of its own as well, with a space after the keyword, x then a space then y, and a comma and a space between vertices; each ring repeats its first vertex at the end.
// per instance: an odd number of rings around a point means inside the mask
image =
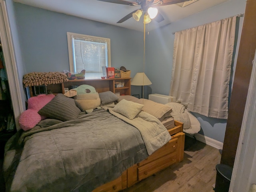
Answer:
POLYGON ((20 128, 27 131, 36 126, 41 120, 46 119, 46 117, 39 115, 38 111, 48 104, 54 97, 54 94, 41 94, 36 97, 30 97, 28 99, 28 109, 22 112, 19 118, 20 128))

